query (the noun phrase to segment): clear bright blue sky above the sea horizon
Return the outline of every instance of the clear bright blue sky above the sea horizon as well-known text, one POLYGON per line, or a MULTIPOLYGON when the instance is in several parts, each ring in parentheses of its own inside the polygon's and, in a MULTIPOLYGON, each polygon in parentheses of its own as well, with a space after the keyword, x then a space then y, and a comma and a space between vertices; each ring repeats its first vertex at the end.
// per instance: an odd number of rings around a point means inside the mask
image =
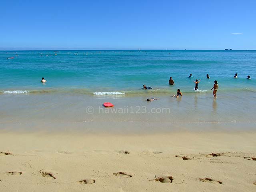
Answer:
POLYGON ((8 0, 0 50, 256 50, 255 8, 255 0, 8 0))

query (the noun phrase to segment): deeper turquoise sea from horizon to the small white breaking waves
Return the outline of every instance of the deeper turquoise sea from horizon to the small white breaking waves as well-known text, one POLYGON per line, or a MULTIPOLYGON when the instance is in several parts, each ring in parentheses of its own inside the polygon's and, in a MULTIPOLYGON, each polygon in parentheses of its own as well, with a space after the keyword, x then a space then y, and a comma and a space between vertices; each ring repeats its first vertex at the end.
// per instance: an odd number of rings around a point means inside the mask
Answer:
POLYGON ((141 90, 143 84, 156 94, 175 93, 177 88, 193 93, 196 79, 201 79, 198 92, 209 91, 214 80, 224 92, 256 91, 256 51, 0 51, 0 71, 0 92, 4 94, 137 95, 145 93, 141 90), (238 79, 233 79, 235 73, 238 79), (246 79, 247 75, 251 80, 246 79), (175 86, 168 86, 170 76, 175 86), (40 83, 42 77, 46 84, 40 83))

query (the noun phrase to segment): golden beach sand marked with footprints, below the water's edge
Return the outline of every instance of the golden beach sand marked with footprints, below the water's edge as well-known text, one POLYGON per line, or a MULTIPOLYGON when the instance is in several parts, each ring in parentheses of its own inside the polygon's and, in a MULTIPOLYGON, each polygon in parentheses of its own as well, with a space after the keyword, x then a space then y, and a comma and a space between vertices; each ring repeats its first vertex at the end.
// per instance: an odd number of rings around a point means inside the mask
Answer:
POLYGON ((0 191, 252 192, 255 138, 256 132, 1 132, 0 191))

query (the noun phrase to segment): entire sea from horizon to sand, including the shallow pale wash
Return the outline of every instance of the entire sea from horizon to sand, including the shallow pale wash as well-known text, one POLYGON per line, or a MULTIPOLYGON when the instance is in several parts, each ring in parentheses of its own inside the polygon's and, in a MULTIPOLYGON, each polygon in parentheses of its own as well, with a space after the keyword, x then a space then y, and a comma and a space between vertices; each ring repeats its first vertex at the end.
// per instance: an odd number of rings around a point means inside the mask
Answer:
POLYGON ((0 71, 1 129, 148 133, 256 127, 256 51, 0 51, 0 71), (168 85, 170 76, 175 86, 168 85), (141 89, 143 84, 152 89, 141 89), (178 88, 183 97, 173 98, 178 88), (104 108, 104 102, 115 106, 104 108))

